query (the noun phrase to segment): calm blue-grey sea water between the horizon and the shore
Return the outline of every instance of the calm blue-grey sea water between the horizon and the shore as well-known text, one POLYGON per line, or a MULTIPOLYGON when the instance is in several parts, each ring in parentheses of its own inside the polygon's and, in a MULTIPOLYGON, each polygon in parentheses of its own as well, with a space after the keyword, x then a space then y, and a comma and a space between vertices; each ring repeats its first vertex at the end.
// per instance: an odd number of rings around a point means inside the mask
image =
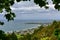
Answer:
POLYGON ((35 28, 40 24, 26 24, 26 23, 50 23, 50 20, 15 20, 6 22, 3 26, 0 25, 0 30, 5 32, 18 31, 23 29, 35 28))

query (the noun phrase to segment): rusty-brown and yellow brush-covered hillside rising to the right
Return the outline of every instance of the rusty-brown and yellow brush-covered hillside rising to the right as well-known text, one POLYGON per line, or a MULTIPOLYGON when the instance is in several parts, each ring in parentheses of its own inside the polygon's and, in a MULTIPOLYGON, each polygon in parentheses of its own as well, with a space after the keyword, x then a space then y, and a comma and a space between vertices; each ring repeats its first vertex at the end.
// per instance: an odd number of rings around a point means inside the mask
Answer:
POLYGON ((47 26, 40 26, 33 33, 33 38, 38 40, 60 40, 60 22, 54 21, 47 26))

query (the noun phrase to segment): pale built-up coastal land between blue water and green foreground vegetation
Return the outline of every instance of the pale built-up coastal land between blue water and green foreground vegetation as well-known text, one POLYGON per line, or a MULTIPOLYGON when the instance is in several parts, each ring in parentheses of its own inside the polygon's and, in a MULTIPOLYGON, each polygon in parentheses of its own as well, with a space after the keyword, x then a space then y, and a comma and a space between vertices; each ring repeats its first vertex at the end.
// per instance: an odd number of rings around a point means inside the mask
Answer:
MULTIPOLYGON (((23 29, 23 30, 17 30, 17 31, 9 31, 9 32, 6 32, 7 34, 11 34, 11 33, 16 33, 16 34, 32 34, 34 32, 35 29, 38 29, 41 25, 37 25, 37 27, 32 27, 32 28, 29 28, 29 29, 23 29)), ((44 24, 43 26, 48 26, 48 24, 44 24)))

